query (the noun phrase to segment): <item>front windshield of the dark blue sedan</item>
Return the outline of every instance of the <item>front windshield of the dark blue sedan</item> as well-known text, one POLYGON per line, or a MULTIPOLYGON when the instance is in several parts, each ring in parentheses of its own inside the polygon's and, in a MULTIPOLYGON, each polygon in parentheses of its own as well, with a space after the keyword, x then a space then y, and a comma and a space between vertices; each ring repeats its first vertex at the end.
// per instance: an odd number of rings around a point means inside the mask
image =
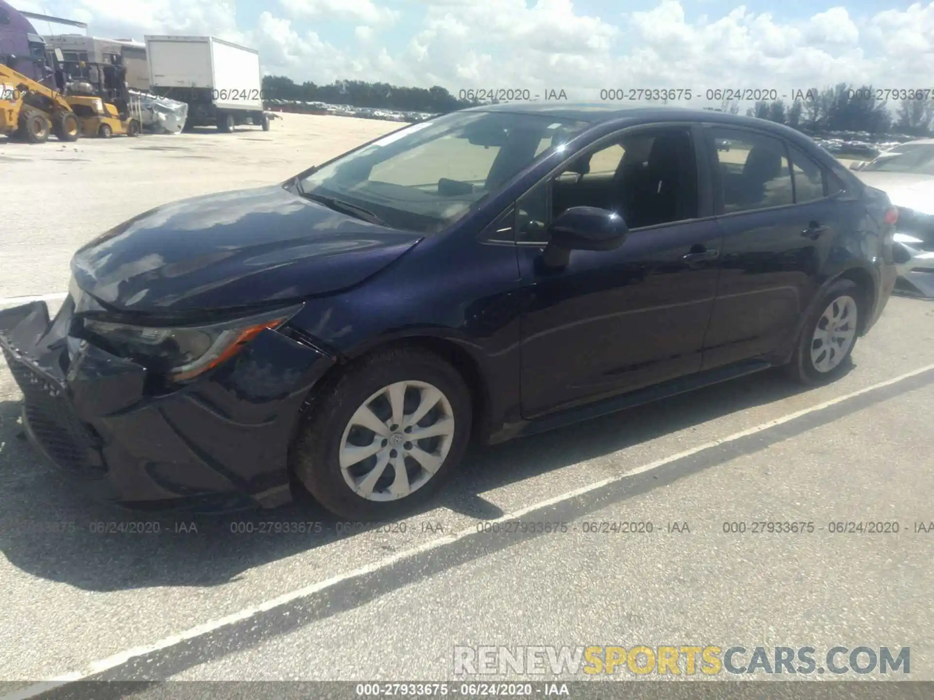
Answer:
POLYGON ((455 112, 348 153, 305 177, 300 189, 310 199, 364 209, 394 228, 440 231, 587 126, 540 115, 455 112))

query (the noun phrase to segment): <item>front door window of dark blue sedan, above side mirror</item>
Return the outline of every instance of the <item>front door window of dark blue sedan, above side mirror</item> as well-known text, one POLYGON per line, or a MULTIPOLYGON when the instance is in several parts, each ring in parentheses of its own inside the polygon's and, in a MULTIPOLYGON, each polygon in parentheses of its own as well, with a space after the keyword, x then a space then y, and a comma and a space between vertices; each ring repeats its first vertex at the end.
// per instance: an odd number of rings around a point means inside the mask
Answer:
POLYGON ((630 229, 698 216, 697 166, 687 129, 640 130, 591 148, 517 201, 519 243, 547 243, 551 221, 573 206, 614 211, 630 229))

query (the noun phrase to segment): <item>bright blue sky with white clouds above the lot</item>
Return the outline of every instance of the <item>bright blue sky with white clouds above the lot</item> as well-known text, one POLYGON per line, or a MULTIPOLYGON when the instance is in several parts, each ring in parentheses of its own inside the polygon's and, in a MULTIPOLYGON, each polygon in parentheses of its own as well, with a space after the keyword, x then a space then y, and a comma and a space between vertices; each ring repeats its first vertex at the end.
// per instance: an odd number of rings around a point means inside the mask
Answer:
MULTIPOLYGON (((934 1, 12 0, 93 35, 216 35, 296 81, 782 91, 934 88, 934 1)), ((36 29, 43 33, 41 26, 36 29)))

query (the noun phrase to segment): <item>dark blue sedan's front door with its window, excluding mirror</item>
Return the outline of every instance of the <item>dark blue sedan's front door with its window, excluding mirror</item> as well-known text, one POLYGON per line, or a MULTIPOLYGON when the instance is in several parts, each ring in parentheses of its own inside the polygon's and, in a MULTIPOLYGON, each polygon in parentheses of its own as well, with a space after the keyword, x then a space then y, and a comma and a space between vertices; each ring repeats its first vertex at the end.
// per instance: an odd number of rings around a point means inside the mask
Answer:
POLYGON ((701 217, 712 205, 699 196, 698 155, 689 127, 627 131, 517 203, 520 272, 532 290, 522 320, 524 417, 701 369, 720 231, 701 217), (566 268, 549 270, 547 225, 576 205, 615 210, 629 237, 616 250, 573 251, 566 268))

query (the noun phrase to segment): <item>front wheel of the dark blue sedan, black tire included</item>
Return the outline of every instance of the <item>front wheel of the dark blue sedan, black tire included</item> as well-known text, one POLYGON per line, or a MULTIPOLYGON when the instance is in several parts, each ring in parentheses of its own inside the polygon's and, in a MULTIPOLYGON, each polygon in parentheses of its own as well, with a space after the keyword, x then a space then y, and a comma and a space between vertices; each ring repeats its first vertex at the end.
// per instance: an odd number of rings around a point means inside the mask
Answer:
POLYGON ((292 469, 318 503, 339 517, 354 521, 394 519, 429 500, 457 469, 470 439, 471 404, 460 373, 441 357, 412 347, 378 351, 355 362, 322 388, 299 426, 291 451, 292 469), (440 428, 434 437, 405 441, 412 426, 402 429, 403 423, 390 429, 389 386, 401 383, 407 385, 401 394, 402 409, 397 409, 403 421, 416 413, 423 398, 434 398, 432 389, 440 393, 433 402, 427 401, 431 410, 415 425, 423 430, 440 428), (365 407, 379 419, 376 426, 386 431, 384 437, 354 421, 365 407), (453 421, 453 427, 447 420, 453 421), (351 461, 347 451, 342 453, 345 445, 352 449, 371 444, 378 452, 361 460, 351 461), (344 468, 342 454, 346 455, 344 468), (422 462, 434 469, 433 475, 422 462), (401 473, 403 480, 399 479, 401 473), (378 478, 370 482, 370 496, 363 497, 351 483, 366 492, 367 475, 378 478))

